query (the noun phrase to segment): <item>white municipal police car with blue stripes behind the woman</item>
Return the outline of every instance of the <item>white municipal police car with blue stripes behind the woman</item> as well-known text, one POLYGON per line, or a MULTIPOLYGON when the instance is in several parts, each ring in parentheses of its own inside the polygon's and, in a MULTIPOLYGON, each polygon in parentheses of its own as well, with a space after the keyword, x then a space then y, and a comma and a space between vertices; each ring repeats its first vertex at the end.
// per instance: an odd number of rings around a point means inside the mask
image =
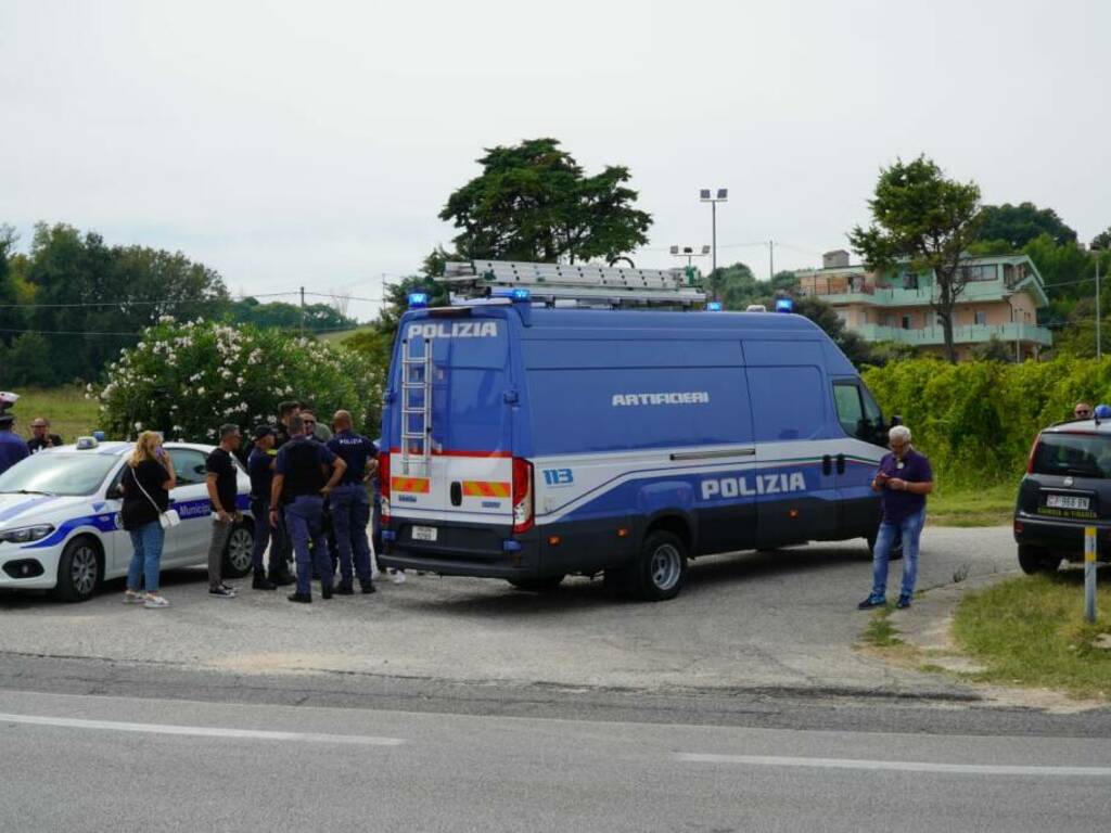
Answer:
MULTIPOLYGON (((80 602, 106 579, 127 575, 131 538, 120 522, 120 478, 129 442, 47 449, 0 474, 0 590, 53 590, 80 602)), ((166 531, 162 568, 207 561, 210 522, 204 463, 212 445, 168 442, 178 485, 170 492, 181 523, 166 531)), ((237 461, 238 465, 238 461, 237 461)), ((237 508, 244 519, 229 536, 224 575, 251 569, 253 523, 249 518, 250 478, 239 468, 237 508)))

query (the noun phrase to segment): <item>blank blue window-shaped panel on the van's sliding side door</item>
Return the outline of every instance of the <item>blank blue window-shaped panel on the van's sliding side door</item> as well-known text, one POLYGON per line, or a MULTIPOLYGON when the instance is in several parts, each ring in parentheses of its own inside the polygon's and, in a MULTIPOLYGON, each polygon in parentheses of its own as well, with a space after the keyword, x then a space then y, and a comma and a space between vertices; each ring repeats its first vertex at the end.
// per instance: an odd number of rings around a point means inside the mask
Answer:
POLYGON ((749 368, 757 442, 810 440, 825 421, 818 368, 749 368))

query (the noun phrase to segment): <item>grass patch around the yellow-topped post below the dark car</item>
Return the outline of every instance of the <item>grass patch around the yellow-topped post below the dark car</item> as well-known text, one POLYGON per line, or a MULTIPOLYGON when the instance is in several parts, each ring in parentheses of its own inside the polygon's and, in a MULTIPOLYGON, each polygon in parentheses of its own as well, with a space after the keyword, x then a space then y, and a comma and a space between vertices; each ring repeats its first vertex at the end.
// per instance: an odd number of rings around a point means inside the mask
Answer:
POLYGON ((958 644, 985 671, 979 682, 1058 689, 1078 697, 1111 700, 1111 570, 1099 575, 1095 624, 1083 618, 1081 570, 1025 575, 970 593, 953 621, 958 644))

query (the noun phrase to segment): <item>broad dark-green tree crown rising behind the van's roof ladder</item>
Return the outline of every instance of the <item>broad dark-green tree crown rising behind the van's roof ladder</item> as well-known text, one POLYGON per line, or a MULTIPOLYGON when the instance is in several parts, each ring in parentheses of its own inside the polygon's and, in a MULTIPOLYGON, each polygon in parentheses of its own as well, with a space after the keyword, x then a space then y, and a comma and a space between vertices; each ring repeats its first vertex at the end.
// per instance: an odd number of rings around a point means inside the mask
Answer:
POLYGON ((556 139, 488 148, 482 173, 448 198, 441 220, 462 232, 467 260, 612 260, 648 242, 652 218, 633 208, 629 169, 585 177, 556 139))

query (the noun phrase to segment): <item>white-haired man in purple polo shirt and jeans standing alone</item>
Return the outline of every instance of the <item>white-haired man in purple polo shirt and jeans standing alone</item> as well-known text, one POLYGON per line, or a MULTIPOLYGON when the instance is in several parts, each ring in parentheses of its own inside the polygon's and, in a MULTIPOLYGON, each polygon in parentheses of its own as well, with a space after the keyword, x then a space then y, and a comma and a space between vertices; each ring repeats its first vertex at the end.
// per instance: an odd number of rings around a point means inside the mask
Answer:
POLYGON ((888 603, 888 560, 891 546, 902 535, 903 575, 897 608, 909 608, 918 579, 918 543, 925 523, 925 495, 933 491, 933 470, 924 454, 910 444, 910 429, 895 425, 888 432, 891 453, 884 454, 872 478, 872 491, 880 492, 883 519, 872 553, 872 593, 860 610, 888 603))

